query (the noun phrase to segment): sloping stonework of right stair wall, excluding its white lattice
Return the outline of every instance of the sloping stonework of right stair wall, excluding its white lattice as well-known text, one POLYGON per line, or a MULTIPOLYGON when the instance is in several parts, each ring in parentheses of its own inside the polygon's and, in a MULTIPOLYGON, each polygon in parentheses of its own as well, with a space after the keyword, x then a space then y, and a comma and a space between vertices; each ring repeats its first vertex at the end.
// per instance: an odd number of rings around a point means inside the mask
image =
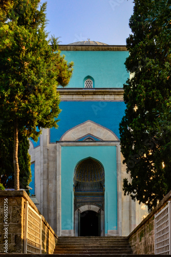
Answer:
POLYGON ((170 199, 171 191, 127 237, 134 254, 155 254, 155 214, 162 210, 170 199))

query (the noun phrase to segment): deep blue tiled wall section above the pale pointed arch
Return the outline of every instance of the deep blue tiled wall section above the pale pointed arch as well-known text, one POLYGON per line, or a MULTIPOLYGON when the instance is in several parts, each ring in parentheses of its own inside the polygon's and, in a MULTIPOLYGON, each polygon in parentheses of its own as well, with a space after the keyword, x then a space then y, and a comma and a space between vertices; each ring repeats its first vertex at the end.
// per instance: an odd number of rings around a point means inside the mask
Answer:
POLYGON ((119 138, 119 123, 124 115, 124 102, 61 102, 58 129, 50 129, 50 142, 60 137, 72 127, 87 120, 94 121, 113 131, 119 138))

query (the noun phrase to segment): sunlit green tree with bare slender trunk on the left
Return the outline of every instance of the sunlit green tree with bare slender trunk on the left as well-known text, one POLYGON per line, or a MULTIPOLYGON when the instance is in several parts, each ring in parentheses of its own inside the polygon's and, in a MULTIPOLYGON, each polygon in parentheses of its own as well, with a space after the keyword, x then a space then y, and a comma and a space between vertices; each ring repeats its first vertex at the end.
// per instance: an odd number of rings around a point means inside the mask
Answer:
POLYGON ((41 128, 57 127, 56 88, 66 86, 72 75, 73 64, 60 56, 54 38, 50 46, 46 3, 40 7, 39 3, 8 0, 0 5, 0 120, 7 130, 13 128, 15 190, 19 190, 18 132, 37 140, 41 128))

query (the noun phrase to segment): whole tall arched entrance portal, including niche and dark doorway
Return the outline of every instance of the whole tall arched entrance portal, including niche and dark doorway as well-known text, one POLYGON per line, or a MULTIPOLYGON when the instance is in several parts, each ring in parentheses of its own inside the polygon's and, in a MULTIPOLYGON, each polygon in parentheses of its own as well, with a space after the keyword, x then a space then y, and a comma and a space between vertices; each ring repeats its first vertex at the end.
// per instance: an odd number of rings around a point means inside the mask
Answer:
POLYGON ((74 212, 76 236, 104 235, 104 168, 91 157, 75 167, 74 212))

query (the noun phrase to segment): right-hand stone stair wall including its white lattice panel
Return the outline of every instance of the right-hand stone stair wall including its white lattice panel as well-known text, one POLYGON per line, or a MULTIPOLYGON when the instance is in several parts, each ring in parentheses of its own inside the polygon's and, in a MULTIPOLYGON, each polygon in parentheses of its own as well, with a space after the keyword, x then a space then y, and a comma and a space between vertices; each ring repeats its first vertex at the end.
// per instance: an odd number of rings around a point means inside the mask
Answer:
MULTIPOLYGON (((154 210, 146 216, 143 221, 132 231, 132 233, 127 237, 129 239, 130 245, 133 249, 134 254, 155 254, 155 248, 159 247, 159 245, 165 245, 166 244, 166 238, 165 236, 160 238, 160 243, 157 245, 157 230, 155 235, 155 218, 157 219, 158 214, 162 213, 165 209, 167 209, 167 206, 169 206, 169 201, 171 200, 171 191, 160 201, 160 203, 154 208, 154 210), (162 211, 163 210, 163 211, 162 211), (155 244, 155 237, 156 237, 156 244, 155 244)), ((169 209, 169 208, 168 208, 169 209)), ((166 223, 171 222, 171 216, 168 214, 168 219, 165 218, 166 223)), ((157 222, 157 221, 156 221, 157 222)), ((164 224, 163 227, 165 228, 167 224, 164 224)), ((168 226, 167 226, 168 227, 168 226)), ((167 238, 170 236, 171 227, 169 226, 169 232, 167 233, 167 238)), ((165 231, 165 230, 164 230, 165 231)), ((161 233, 166 233, 166 232, 161 233)), ((170 238, 168 239, 168 242, 170 242, 170 238)), ((167 251, 167 248, 170 249, 170 245, 168 247, 165 247, 165 249, 160 249, 159 251, 156 251, 156 254, 161 254, 163 251, 164 254, 170 254, 165 253, 167 251)))

